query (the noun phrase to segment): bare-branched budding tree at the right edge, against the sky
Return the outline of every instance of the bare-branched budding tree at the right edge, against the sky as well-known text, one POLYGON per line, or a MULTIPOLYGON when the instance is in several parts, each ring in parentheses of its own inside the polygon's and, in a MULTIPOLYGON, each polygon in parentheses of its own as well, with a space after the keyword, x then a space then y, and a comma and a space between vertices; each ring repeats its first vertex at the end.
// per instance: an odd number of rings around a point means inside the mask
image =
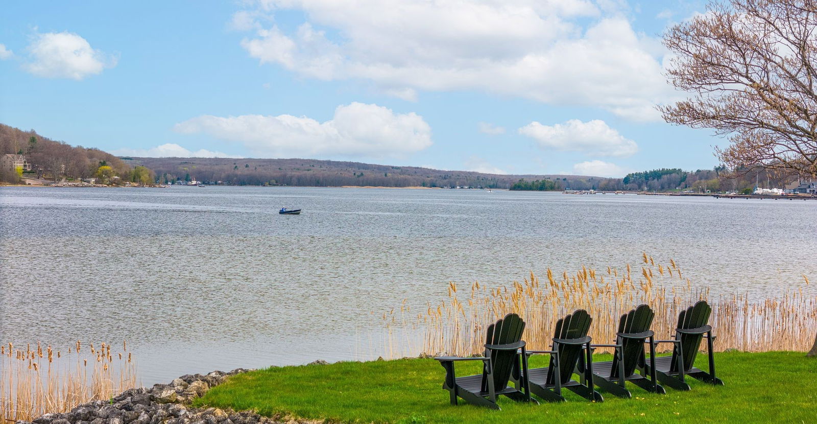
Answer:
MULTIPOLYGON (((817 177, 817 1, 730 0, 672 26, 667 74, 691 94, 659 106, 668 123, 729 136, 733 168, 817 177)), ((809 356, 817 355, 817 339, 809 356)))

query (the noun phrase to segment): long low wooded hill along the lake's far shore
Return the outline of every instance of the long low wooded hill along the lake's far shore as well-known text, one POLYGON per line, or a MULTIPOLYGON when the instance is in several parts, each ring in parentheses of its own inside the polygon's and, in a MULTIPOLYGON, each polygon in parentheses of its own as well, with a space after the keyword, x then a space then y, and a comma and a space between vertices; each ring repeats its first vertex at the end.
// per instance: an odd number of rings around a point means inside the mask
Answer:
POLYGON ((156 172, 159 182, 205 181, 234 185, 382 187, 484 187, 508 189, 520 181, 560 181, 564 187, 590 189, 605 181, 621 179, 574 175, 499 175, 469 171, 444 171, 426 167, 398 167, 372 163, 317 159, 263 158, 122 158, 132 166, 142 165, 156 172))

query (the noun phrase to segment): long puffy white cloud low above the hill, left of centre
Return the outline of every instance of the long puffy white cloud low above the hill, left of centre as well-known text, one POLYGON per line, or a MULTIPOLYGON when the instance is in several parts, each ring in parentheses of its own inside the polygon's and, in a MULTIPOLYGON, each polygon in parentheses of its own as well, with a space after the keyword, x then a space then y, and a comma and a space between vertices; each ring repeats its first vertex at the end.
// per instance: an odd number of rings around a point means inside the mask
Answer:
POLYGON ((292 115, 203 115, 177 123, 176 132, 203 132, 243 144, 271 157, 400 157, 431 145, 431 127, 421 116, 395 114, 378 105, 340 105, 324 123, 292 115))

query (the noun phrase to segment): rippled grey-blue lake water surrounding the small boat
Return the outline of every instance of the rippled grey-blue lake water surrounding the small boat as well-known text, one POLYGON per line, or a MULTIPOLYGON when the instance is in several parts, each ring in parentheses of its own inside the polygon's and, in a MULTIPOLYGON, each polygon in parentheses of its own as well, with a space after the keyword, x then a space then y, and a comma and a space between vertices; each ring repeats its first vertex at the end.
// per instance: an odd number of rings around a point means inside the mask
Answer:
MULTIPOLYGON (((817 281, 817 201, 482 190, 0 188, 0 342, 127 339, 142 382, 377 357, 449 281, 670 258, 694 286, 817 281), (304 208, 280 216, 282 206, 304 208)), ((817 284, 804 287, 817 294, 817 284)))

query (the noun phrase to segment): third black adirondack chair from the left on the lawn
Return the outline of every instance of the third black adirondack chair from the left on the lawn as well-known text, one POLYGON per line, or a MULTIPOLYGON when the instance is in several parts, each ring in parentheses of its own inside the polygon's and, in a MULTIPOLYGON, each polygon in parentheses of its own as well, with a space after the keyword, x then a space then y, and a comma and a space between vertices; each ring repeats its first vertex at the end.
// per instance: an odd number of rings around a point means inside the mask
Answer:
POLYGON ((625 382, 632 382, 646 391, 666 393, 656 381, 656 373, 650 373, 649 378, 643 373, 636 373, 636 369, 641 371, 646 367, 645 342, 650 346, 650 370, 655 369, 655 337, 650 330, 654 316, 650 306, 637 306, 618 320, 614 345, 592 345, 615 348, 612 361, 592 364, 593 382, 596 386, 623 398, 632 397, 625 382))

